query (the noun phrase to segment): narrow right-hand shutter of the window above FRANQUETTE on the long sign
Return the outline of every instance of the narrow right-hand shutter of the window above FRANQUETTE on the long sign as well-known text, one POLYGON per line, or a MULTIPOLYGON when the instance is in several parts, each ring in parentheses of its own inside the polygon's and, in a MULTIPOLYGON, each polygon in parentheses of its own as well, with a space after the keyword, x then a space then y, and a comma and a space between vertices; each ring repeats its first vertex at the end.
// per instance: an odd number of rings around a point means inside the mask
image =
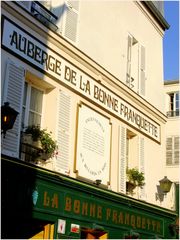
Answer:
POLYGON ((140 59, 140 94, 145 96, 145 47, 141 45, 141 59, 140 59))

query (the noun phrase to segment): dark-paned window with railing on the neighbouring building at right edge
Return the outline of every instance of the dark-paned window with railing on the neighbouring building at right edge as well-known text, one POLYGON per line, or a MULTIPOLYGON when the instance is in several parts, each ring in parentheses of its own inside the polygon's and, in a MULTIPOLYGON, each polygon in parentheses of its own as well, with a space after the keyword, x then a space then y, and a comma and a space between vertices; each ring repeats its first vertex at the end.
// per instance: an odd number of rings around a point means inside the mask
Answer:
POLYGON ((179 92, 169 94, 169 111, 168 117, 179 116, 179 92))

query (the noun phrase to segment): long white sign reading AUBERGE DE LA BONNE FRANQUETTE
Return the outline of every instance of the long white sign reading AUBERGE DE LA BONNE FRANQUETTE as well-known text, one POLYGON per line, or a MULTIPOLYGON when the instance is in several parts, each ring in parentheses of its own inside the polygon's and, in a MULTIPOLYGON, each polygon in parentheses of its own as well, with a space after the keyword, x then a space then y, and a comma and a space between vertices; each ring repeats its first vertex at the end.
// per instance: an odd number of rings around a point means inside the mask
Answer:
POLYGON ((160 142, 159 124, 5 17, 2 47, 160 142))

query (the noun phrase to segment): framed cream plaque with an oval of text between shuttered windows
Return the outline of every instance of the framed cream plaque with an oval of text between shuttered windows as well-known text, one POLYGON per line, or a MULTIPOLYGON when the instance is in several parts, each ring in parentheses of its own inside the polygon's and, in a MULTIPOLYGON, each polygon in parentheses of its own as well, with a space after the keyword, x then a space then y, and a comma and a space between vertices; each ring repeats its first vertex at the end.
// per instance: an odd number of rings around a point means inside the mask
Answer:
POLYGON ((105 116, 81 104, 78 116, 76 170, 91 180, 109 181, 111 124, 105 116))

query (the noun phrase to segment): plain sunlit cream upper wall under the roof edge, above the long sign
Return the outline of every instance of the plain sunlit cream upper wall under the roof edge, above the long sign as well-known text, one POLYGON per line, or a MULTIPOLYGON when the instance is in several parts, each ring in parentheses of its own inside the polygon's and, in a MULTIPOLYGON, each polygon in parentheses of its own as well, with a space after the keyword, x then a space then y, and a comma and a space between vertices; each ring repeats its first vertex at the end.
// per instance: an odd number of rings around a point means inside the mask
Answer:
POLYGON ((162 32, 133 1, 81 1, 77 46, 126 81, 127 35, 146 48, 146 99, 164 111, 162 32))

